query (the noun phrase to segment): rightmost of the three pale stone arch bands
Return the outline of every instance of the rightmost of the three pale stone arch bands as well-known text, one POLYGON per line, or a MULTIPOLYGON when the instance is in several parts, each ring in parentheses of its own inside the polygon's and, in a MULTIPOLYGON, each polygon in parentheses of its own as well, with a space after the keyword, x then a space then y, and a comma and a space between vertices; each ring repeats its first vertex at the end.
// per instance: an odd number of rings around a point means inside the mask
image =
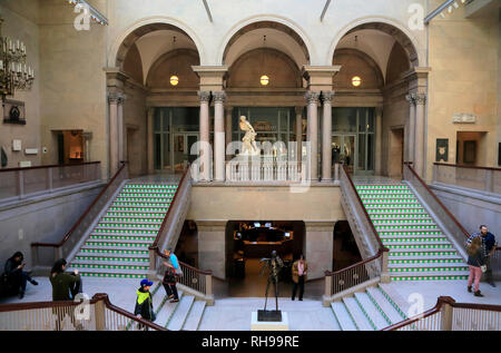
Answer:
POLYGON ((395 41, 397 41, 402 46, 402 48, 404 48, 412 67, 419 67, 425 62, 424 58, 418 51, 419 48, 418 40, 405 28, 405 26, 393 19, 382 17, 362 18, 354 20, 347 26, 345 26, 331 42, 327 62, 331 62, 340 40, 344 36, 361 29, 380 30, 384 33, 392 36, 395 39, 395 41))

